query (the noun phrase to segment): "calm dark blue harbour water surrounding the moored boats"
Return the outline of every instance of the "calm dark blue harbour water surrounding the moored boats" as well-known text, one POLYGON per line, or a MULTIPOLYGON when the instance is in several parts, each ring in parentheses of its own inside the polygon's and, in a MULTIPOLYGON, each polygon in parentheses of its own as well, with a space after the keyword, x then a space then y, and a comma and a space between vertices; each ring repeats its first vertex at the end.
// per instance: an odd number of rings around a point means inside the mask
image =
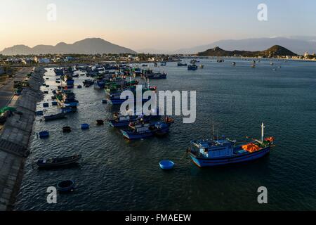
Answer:
MULTIPOLYGON (((176 63, 159 68, 165 80, 152 80, 160 90, 196 90, 197 120, 183 124, 176 117, 164 138, 126 141, 119 130, 95 121, 112 115, 104 105, 103 91, 74 89, 78 113, 67 120, 34 124, 34 131, 48 130, 49 139, 31 138, 32 154, 25 165, 16 210, 316 210, 316 63, 231 59, 224 63, 201 60, 204 69, 187 71, 176 63), (235 61, 237 65, 231 65, 235 61), (281 66, 281 68, 278 68, 281 66), (276 71, 272 71, 277 68, 276 71), (81 131, 88 122, 91 129, 81 131), (185 155, 191 139, 209 138, 211 124, 220 134, 243 139, 275 136, 276 147, 261 160, 242 165, 199 169, 185 155), (73 127, 63 134, 62 127, 73 127), (79 167, 40 171, 32 168, 39 158, 80 153, 79 167), (170 172, 159 161, 170 159, 170 172), (46 203, 46 188, 74 179, 77 190, 58 195, 58 204, 46 203), (259 186, 268 188, 268 204, 257 203, 259 186)), ((152 66, 152 65, 151 65, 152 66)), ((51 101, 55 86, 52 70, 46 72, 51 101)), ((86 77, 74 78, 80 84, 86 77)), ((44 88, 46 89, 46 88, 44 88)), ((51 106, 50 112, 57 108, 51 106)))

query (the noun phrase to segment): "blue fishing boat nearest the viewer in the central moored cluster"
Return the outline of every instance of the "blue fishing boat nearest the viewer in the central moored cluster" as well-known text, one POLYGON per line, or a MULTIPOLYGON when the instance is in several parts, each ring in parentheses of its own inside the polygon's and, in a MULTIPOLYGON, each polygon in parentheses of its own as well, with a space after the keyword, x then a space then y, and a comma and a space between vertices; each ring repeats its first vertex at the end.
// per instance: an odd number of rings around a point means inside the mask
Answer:
POLYGON ((121 129, 121 134, 124 138, 129 140, 135 139, 145 139, 155 134, 168 134, 169 127, 173 123, 171 118, 166 118, 164 122, 154 122, 150 124, 149 122, 131 122, 129 124, 129 129, 121 129))

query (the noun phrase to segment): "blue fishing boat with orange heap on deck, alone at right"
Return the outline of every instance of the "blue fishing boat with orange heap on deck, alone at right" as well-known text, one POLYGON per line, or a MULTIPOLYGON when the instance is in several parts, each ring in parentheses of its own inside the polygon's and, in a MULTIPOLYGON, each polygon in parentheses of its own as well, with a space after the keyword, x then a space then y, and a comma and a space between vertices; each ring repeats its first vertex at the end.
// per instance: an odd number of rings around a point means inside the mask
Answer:
POLYGON ((261 125, 261 140, 237 144, 230 139, 193 140, 188 152, 198 167, 213 167, 262 158, 270 153, 273 137, 264 138, 264 124, 261 125))

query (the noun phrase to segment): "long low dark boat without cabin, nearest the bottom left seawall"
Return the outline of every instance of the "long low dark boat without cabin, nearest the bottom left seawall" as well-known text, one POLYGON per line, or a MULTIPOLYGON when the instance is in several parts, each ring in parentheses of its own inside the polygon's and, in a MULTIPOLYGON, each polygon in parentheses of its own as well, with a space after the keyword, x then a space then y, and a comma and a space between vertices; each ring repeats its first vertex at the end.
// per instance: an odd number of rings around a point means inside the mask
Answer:
POLYGON ((48 160, 37 160, 37 166, 39 168, 56 168, 65 167, 77 163, 81 158, 81 155, 72 155, 62 158, 51 158, 48 160))

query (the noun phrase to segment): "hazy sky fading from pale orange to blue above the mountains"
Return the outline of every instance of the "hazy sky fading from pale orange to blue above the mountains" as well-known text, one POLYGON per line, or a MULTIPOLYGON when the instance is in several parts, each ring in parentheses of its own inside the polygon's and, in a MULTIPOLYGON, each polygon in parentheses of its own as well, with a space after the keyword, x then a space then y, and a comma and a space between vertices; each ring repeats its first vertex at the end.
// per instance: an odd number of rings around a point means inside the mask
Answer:
POLYGON ((220 39, 316 36, 315 0, 0 0, 0 50, 101 37, 131 49, 175 50, 220 39), (268 21, 257 19, 258 4, 268 21), (47 5, 57 20, 47 20, 47 5))

